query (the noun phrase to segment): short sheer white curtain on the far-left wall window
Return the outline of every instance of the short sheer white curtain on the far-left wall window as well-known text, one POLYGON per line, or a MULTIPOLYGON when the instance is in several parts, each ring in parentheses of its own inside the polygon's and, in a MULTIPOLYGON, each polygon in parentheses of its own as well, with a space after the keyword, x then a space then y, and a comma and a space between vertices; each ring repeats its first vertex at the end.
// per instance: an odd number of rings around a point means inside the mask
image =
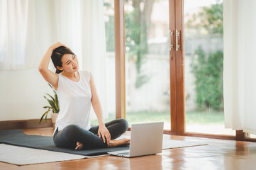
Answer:
POLYGON ((0 1, 0 70, 35 67, 33 0, 0 1))

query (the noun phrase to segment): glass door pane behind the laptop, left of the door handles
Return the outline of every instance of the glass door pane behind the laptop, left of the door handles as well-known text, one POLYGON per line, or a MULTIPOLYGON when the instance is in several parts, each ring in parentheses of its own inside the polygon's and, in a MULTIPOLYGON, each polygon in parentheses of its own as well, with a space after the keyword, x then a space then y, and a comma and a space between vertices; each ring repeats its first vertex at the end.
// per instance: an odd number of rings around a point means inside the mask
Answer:
POLYGON ((170 129, 168 0, 125 1, 126 118, 170 129))

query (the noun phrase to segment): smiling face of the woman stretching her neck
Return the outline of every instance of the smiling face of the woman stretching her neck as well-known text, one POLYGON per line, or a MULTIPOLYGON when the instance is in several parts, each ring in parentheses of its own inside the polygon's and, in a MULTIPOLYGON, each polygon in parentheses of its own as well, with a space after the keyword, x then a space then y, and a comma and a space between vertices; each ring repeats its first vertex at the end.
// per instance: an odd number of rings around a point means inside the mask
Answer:
POLYGON ((65 54, 62 57, 62 67, 65 72, 77 72, 79 69, 76 55, 65 54))

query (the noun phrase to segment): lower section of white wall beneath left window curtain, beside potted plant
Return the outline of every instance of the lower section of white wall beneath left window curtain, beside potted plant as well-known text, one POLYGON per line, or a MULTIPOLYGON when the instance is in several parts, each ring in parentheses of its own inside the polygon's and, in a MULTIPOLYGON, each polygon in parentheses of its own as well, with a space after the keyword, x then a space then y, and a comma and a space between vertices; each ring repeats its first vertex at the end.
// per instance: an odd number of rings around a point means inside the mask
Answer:
POLYGON ((38 69, 0 72, 0 120, 38 119, 45 111, 50 87, 38 69))

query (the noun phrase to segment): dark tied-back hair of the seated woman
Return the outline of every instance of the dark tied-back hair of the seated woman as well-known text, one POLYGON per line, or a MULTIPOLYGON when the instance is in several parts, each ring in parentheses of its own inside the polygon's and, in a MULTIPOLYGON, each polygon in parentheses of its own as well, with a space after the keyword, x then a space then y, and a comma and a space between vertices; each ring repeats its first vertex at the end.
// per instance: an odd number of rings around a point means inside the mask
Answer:
POLYGON ((55 50, 52 51, 52 62, 54 64, 54 67, 56 68, 56 72, 57 74, 61 73, 63 70, 57 69, 58 67, 62 67, 62 57, 63 55, 66 54, 70 54, 70 55, 74 55, 74 52, 72 52, 72 50, 70 50, 69 48, 65 47, 65 46, 60 46, 57 47, 55 50))

